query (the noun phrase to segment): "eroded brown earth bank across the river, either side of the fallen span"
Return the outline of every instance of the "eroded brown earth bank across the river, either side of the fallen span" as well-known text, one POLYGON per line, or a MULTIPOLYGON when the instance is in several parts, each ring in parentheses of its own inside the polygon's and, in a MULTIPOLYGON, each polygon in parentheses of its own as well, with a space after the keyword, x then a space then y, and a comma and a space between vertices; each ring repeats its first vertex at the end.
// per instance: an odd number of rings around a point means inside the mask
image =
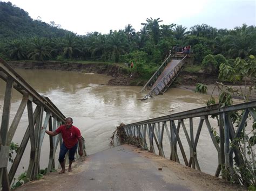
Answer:
MULTIPOLYGON (((106 74, 116 77, 130 78, 131 74, 127 72, 127 68, 118 64, 109 64, 104 62, 66 62, 66 61, 9 61, 8 64, 13 68, 21 69, 53 69, 65 70, 82 73, 106 74)), ((129 86, 143 86, 146 81, 138 79, 138 76, 132 76, 129 86)), ((195 86, 196 83, 212 84, 217 80, 217 76, 209 76, 205 73, 190 73, 181 70, 177 80, 173 84, 174 87, 182 85, 195 86)))

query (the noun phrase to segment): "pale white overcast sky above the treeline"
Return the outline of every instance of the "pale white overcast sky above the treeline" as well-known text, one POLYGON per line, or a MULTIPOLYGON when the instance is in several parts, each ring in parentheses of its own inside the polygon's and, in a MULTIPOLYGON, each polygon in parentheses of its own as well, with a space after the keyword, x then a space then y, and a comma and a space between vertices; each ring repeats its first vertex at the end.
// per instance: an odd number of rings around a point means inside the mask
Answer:
MULTIPOLYGON (((1 1, 1 0, 0 0, 1 1)), ((54 21, 63 29, 84 35, 109 33, 131 24, 136 31, 147 18, 160 24, 187 27, 207 24, 217 29, 233 29, 243 23, 255 26, 256 0, 9 0, 33 19, 54 21)), ((8 1, 4 1, 8 2, 8 1)))

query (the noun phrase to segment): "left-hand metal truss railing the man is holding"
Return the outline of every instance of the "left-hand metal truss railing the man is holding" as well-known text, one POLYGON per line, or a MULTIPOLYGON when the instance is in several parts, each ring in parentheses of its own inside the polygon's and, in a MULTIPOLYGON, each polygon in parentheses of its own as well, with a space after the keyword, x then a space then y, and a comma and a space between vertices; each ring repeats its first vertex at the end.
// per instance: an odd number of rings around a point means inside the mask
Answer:
MULTIPOLYGON (((45 129, 48 126, 50 131, 65 123, 65 116, 49 100, 48 97, 41 96, 25 80, 19 76, 4 60, 0 58, 0 78, 5 82, 5 94, 2 110, 2 123, 0 128, 0 181, 3 190, 9 190, 10 184, 14 179, 17 168, 22 160, 25 148, 30 139, 30 159, 26 172, 28 181, 36 179, 40 170, 41 148, 45 135, 45 129), (22 95, 22 101, 16 111, 14 119, 10 123, 11 97, 14 89, 22 95), (36 108, 33 109, 33 106, 36 108), (25 108, 28 114, 25 114, 25 108), (14 162, 8 172, 9 146, 14 138, 19 122, 22 117, 28 117, 28 128, 26 128, 24 137, 14 162), (42 126, 44 129, 42 129, 42 126)), ((1 87, 4 89, 4 87, 1 87)), ((58 144, 62 144, 61 135, 50 137, 50 154, 47 172, 55 168, 55 153, 58 144)), ((84 145, 83 145, 83 148, 84 145)), ((85 151, 85 150, 84 150, 85 151)))

